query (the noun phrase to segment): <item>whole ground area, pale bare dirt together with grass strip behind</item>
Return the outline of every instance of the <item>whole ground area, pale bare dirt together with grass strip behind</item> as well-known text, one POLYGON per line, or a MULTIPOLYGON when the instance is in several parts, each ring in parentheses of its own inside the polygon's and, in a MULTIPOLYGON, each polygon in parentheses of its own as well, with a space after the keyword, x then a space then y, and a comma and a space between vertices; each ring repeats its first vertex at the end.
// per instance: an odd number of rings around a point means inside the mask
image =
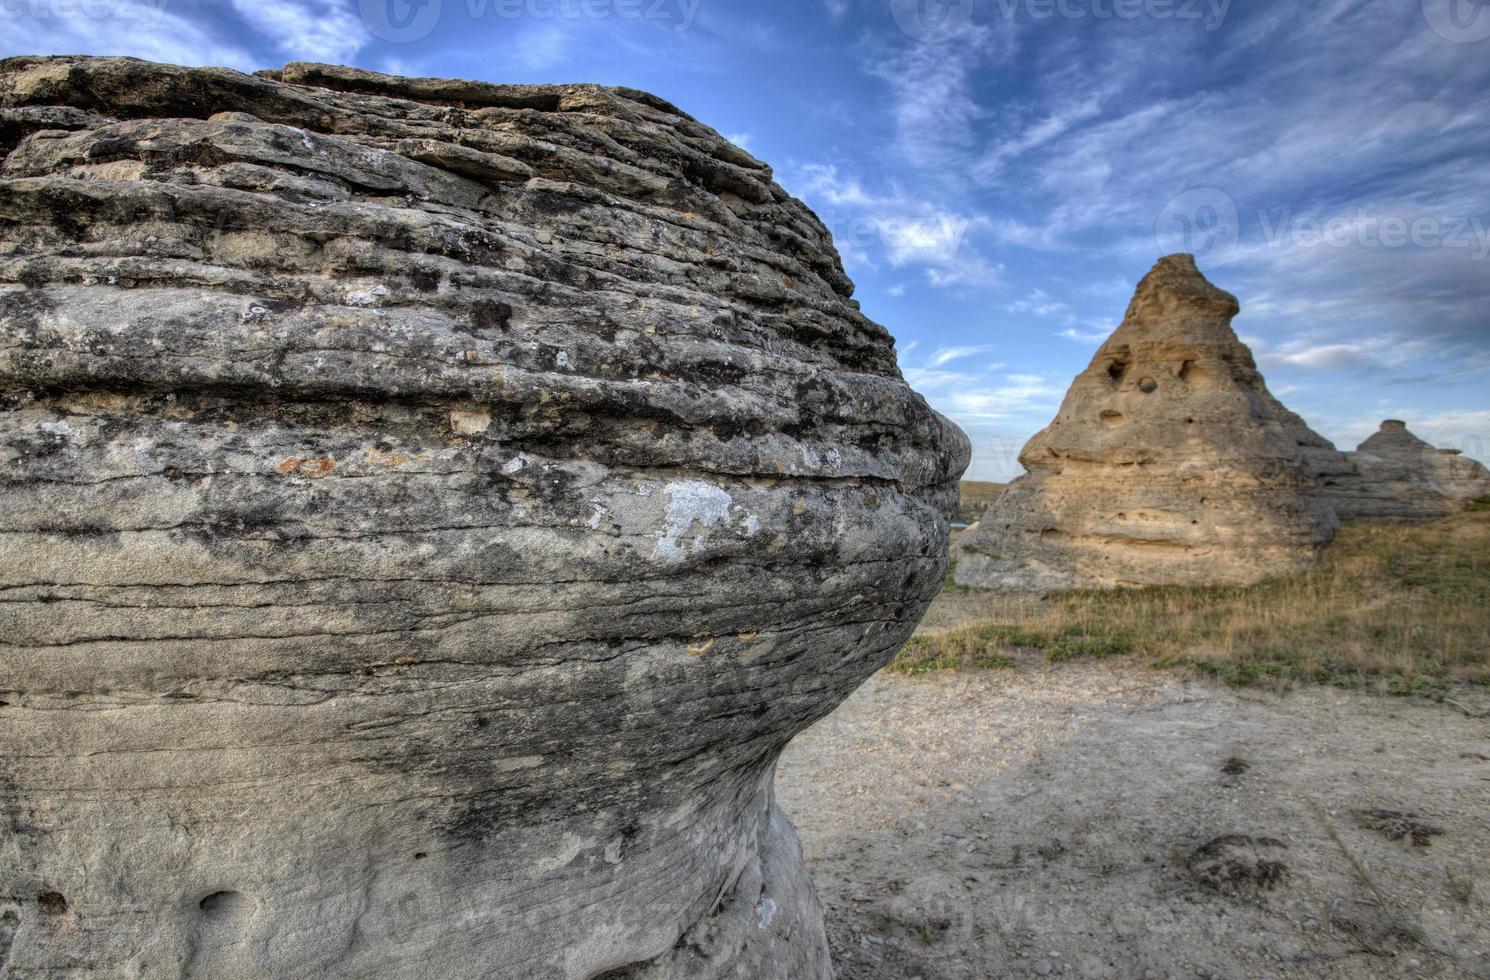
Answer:
POLYGON ((1110 599, 1149 633, 1107 655, 1052 640, 1092 596, 945 590, 778 770, 837 976, 1490 977, 1487 541, 1347 526, 1274 587, 1110 599))

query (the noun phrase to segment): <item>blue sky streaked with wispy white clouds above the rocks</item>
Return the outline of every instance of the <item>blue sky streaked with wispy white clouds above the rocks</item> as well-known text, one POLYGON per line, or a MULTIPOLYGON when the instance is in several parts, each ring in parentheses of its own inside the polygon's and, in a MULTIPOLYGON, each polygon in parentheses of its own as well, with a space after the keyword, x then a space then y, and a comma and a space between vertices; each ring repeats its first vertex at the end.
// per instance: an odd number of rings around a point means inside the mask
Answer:
POLYGON ((0 0, 64 52, 657 92, 833 228, 974 478, 1176 250, 1344 448, 1490 460, 1490 0, 0 0))

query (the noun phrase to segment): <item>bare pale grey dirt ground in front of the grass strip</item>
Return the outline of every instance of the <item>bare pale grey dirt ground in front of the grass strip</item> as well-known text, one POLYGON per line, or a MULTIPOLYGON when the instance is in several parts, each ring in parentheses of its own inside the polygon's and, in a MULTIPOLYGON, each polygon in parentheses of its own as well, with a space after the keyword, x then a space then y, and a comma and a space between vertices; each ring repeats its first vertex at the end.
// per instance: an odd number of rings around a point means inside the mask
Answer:
POLYGON ((845 980, 1490 977, 1490 721, 1450 707, 1112 664, 882 673, 778 788, 845 980))

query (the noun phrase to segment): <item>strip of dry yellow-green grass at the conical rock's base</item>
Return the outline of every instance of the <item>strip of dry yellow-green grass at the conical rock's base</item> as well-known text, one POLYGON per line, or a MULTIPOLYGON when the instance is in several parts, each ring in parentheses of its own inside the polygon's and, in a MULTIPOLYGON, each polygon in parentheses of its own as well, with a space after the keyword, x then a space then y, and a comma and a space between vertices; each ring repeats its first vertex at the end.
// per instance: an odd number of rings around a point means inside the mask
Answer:
POLYGON ((1143 657, 1232 684, 1314 681, 1444 697, 1490 685, 1490 512, 1344 527, 1310 572, 1250 588, 1080 591, 1000 603, 919 636, 903 673, 1006 666, 1015 654, 1143 657))

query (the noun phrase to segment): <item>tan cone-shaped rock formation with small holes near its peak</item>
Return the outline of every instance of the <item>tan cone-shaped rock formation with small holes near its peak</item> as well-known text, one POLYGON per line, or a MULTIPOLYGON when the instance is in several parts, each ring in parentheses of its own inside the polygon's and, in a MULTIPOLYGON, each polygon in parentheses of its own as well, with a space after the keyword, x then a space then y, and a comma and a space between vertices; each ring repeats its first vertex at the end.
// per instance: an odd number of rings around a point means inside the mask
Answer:
POLYGON ((1268 392, 1238 310, 1192 256, 1161 259, 963 539, 957 581, 1240 585, 1311 564, 1337 526, 1316 474, 1350 466, 1268 392))

